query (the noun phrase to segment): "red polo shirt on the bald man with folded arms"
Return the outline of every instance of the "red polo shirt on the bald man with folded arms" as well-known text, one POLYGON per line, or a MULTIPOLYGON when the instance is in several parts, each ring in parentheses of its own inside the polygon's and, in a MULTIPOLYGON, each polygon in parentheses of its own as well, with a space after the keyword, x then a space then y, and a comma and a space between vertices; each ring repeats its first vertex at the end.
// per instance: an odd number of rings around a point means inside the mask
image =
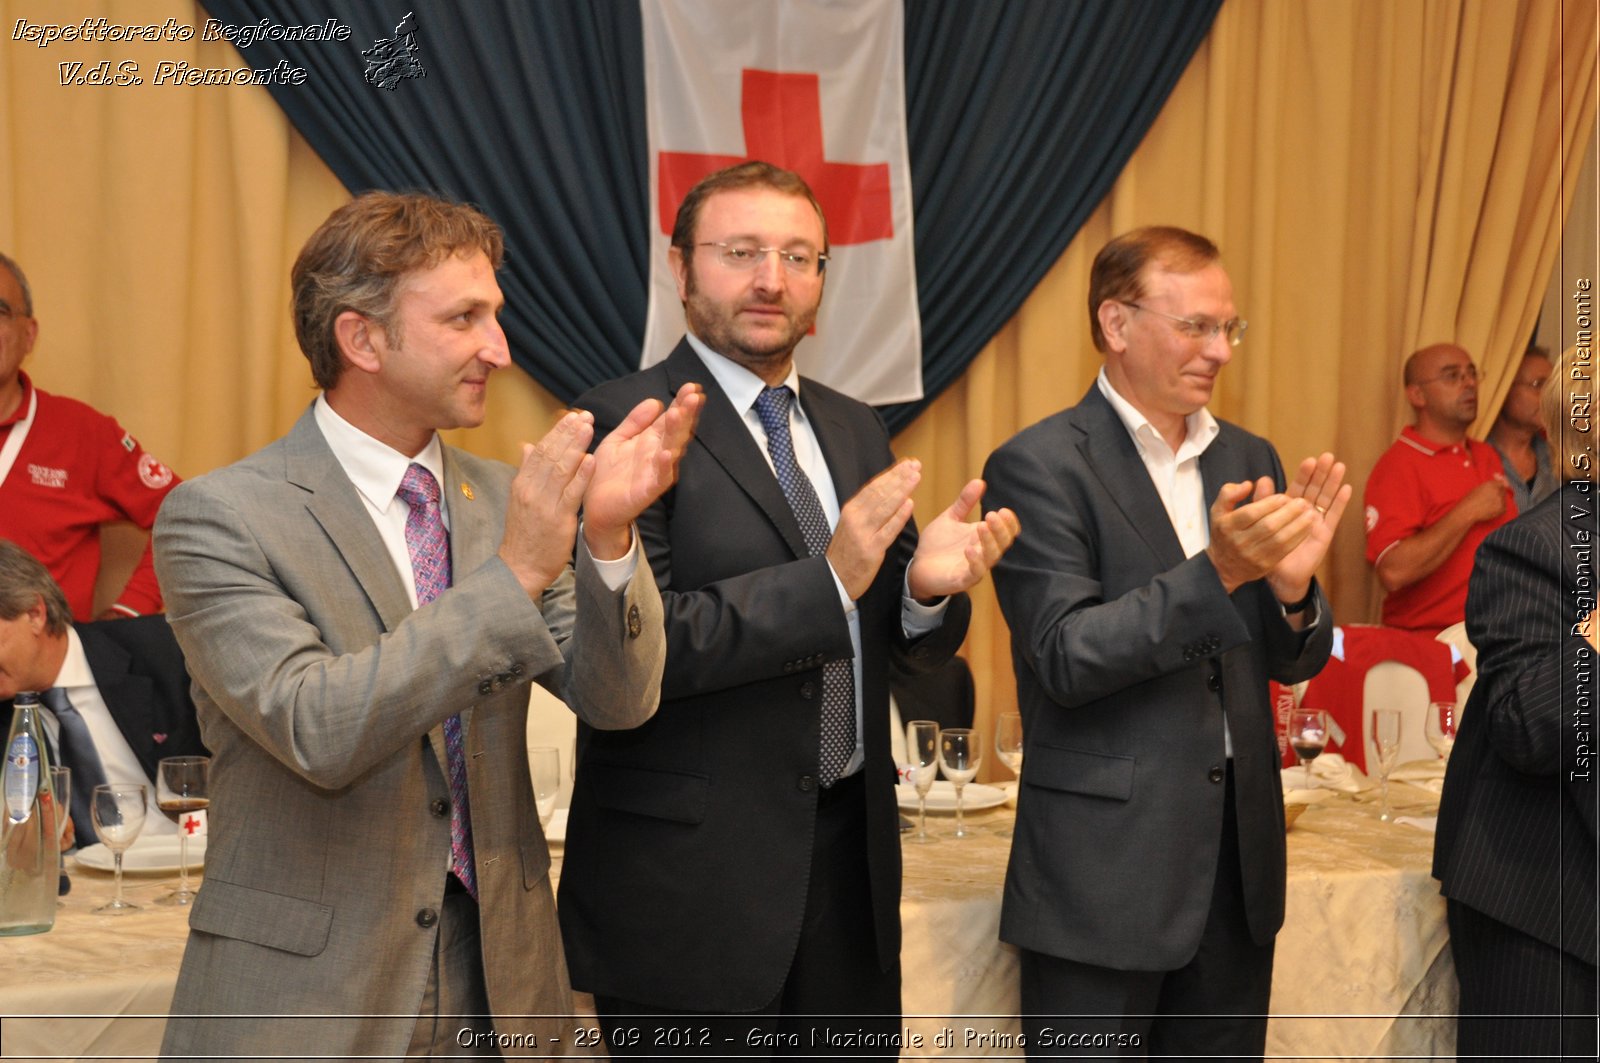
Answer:
MULTIPOLYGON (((1366 560, 1374 567, 1400 540, 1434 527, 1478 483, 1501 474, 1494 448, 1475 439, 1440 445, 1405 427, 1366 480, 1366 560)), ((1438 568, 1384 599, 1384 624, 1438 632, 1467 615, 1467 578, 1478 543, 1517 515, 1506 488, 1506 512, 1480 520, 1438 568)))

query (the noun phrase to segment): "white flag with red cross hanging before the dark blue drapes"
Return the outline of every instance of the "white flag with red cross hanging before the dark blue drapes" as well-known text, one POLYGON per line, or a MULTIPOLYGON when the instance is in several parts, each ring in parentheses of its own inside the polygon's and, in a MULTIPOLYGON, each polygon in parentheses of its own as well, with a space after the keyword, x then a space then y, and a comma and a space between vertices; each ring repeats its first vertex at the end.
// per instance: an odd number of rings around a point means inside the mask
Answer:
POLYGON ((667 247, 683 194, 760 158, 806 179, 832 261, 800 371, 875 405, 922 399, 901 0, 642 0, 650 120, 643 365, 683 335, 667 247))

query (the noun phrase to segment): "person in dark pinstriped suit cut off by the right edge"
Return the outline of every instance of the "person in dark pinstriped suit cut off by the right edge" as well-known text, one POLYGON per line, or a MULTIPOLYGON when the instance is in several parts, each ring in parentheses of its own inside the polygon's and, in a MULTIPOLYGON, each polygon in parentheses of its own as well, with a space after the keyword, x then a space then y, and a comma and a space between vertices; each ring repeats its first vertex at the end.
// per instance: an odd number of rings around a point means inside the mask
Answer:
POLYGON ((1563 397, 1592 394, 1584 365, 1568 351, 1541 397, 1566 483, 1483 541, 1467 589, 1478 680, 1434 840, 1459 1058, 1595 1058, 1594 458, 1563 397))

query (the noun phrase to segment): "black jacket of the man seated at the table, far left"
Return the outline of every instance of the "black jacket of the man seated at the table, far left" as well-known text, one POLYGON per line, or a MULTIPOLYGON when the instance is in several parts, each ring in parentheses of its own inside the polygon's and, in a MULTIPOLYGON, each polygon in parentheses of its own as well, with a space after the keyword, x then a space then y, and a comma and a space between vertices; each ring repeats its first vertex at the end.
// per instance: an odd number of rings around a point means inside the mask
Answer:
MULTIPOLYGON (((75 628, 106 709, 149 781, 155 781, 162 757, 206 756, 189 700, 184 653, 166 616, 102 620, 75 628)), ((3 706, 10 714, 11 703, 3 706)))

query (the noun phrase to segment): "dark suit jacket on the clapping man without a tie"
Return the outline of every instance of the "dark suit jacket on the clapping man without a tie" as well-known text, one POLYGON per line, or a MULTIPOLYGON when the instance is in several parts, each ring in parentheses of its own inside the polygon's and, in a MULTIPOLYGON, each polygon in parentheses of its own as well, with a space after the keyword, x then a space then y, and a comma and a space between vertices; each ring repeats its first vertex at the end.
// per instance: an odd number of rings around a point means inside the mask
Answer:
MULTIPOLYGON (((1226 482, 1283 469, 1232 424, 1200 458, 1226 482)), ((1024 533, 995 568, 1027 756, 1000 937, 1120 970, 1174 970, 1205 929, 1226 754, 1251 937, 1283 922, 1283 796, 1267 677, 1328 658, 1333 618, 1296 632, 1264 581, 1232 597, 1205 552, 1186 559, 1126 427, 1091 386, 984 469, 987 504, 1024 533)))

